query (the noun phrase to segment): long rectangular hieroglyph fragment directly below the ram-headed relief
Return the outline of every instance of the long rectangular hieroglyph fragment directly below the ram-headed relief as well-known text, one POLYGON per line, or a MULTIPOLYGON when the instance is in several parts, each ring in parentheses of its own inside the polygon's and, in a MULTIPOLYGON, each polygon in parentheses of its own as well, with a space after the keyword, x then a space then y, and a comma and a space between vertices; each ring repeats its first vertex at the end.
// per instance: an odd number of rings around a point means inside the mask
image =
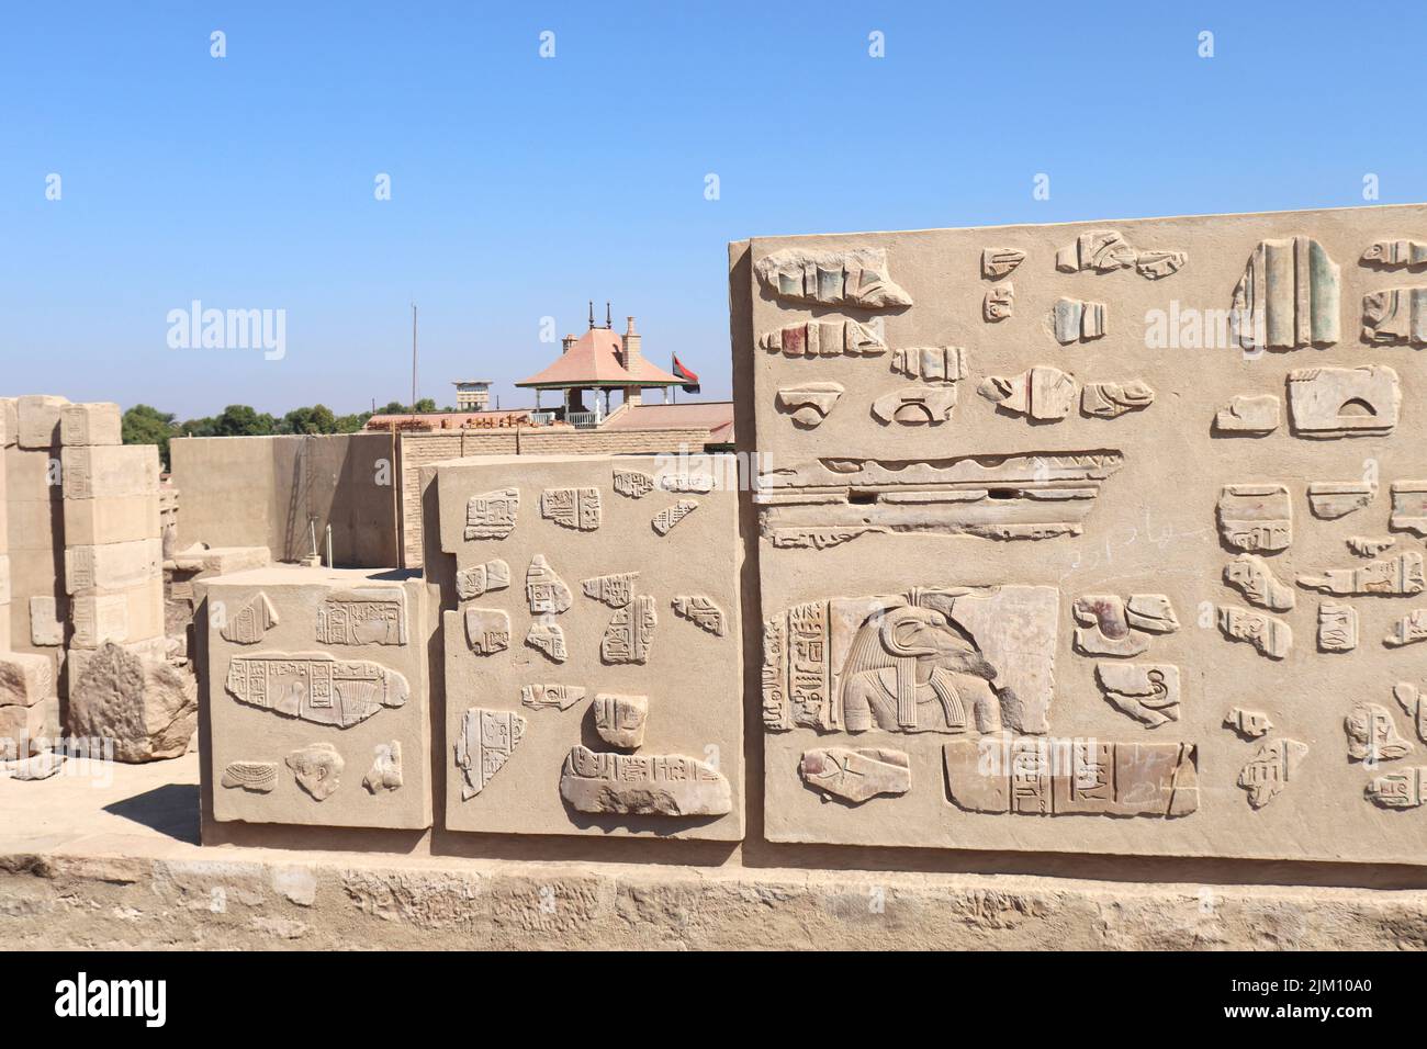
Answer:
POLYGON ((942 748, 950 801, 968 812, 1187 816, 1199 808, 1194 744, 989 736, 942 748))

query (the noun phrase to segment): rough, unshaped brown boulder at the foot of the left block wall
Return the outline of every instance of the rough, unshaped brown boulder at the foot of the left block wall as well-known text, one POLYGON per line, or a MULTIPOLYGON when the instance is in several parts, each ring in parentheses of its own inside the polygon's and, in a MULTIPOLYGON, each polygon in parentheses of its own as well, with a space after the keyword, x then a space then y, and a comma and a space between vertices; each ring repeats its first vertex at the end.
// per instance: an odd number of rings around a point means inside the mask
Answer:
POLYGON ((70 735, 113 739, 116 761, 177 758, 197 726, 194 679, 167 661, 106 644, 70 684, 70 735))

